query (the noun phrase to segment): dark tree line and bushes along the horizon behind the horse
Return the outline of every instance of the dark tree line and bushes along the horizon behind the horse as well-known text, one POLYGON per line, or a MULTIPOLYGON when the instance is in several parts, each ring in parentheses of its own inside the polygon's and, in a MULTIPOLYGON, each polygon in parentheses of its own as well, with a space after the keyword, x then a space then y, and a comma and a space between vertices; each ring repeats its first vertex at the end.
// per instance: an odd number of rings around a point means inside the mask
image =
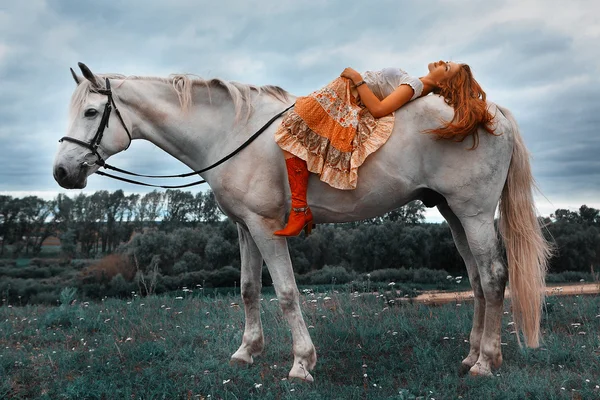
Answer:
MULTIPOLYGON (((422 203, 412 202, 374 219, 321 225, 308 238, 289 240, 294 269, 301 274, 326 265, 359 273, 400 267, 464 272, 448 225, 425 223, 424 211, 422 203)), ((558 209, 542 221, 556 247, 552 272, 590 272, 600 264, 599 210, 558 209)), ((144 266, 158 256, 167 274, 239 266, 235 226, 210 191, 125 195, 102 190, 73 198, 59 194, 49 201, 0 196, 3 258, 36 256, 53 235, 68 258, 99 258, 127 248, 144 266), (144 231, 130 242, 134 232, 144 231)))

